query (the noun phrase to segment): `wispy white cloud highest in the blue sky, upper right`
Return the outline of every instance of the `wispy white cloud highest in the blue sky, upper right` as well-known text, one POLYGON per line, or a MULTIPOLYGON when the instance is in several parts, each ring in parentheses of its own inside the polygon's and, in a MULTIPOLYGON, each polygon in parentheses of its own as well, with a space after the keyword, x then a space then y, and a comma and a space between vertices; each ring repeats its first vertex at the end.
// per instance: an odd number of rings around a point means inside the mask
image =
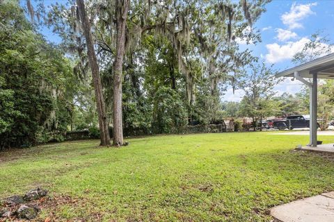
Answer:
POLYGON ((285 12, 280 19, 283 24, 287 25, 289 29, 294 28, 303 28, 303 25, 300 23, 302 19, 308 17, 309 15, 314 15, 315 12, 311 10, 312 6, 317 6, 317 3, 308 3, 308 4, 299 4, 293 3, 290 11, 285 12))

